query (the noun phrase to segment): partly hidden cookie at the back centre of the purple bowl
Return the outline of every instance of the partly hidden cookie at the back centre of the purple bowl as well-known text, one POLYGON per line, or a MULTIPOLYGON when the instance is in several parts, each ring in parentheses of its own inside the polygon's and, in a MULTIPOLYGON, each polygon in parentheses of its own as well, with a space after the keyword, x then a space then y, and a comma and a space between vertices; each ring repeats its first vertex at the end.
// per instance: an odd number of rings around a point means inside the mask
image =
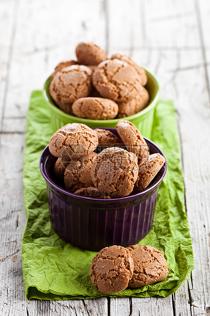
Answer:
POLYGON ((103 147, 103 149, 107 147, 118 147, 117 145, 122 144, 122 140, 111 133, 110 130, 102 129, 102 128, 95 128, 94 129, 98 135, 99 139, 99 147, 103 147))

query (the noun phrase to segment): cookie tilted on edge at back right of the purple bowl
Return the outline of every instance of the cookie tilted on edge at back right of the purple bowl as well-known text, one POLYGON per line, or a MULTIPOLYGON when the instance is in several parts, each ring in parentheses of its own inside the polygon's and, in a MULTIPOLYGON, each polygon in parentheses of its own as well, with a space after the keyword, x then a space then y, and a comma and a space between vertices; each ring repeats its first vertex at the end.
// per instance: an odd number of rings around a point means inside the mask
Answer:
POLYGON ((116 130, 128 150, 135 153, 138 160, 147 159, 149 154, 148 146, 133 123, 126 120, 118 121, 116 130))

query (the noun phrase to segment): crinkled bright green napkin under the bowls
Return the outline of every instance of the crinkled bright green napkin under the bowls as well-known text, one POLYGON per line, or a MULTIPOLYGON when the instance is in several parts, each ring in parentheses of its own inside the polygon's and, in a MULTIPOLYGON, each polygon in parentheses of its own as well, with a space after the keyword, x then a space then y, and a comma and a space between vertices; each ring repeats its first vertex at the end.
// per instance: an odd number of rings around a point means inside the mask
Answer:
MULTIPOLYGON (((26 298, 66 300, 104 296, 89 278, 89 266, 96 252, 67 244, 50 225, 46 184, 39 170, 39 159, 51 135, 48 106, 41 91, 34 91, 27 113, 23 166, 27 223, 22 239, 22 270, 26 298)), ((194 268, 173 101, 159 102, 152 140, 163 150, 168 170, 159 189, 153 228, 139 244, 153 246, 164 253, 169 275, 162 282, 128 288, 107 295, 110 297, 167 297, 190 278, 194 268)))

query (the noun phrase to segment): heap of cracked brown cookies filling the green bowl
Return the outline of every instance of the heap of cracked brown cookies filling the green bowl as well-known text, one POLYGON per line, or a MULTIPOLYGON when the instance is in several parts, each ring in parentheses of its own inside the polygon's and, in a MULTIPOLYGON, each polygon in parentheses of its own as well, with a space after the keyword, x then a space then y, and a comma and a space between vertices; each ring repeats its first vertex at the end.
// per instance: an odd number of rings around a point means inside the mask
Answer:
POLYGON ((76 47, 77 61, 59 63, 49 93, 67 114, 92 120, 123 118, 144 109, 149 94, 147 75, 130 57, 106 51, 92 42, 76 47))

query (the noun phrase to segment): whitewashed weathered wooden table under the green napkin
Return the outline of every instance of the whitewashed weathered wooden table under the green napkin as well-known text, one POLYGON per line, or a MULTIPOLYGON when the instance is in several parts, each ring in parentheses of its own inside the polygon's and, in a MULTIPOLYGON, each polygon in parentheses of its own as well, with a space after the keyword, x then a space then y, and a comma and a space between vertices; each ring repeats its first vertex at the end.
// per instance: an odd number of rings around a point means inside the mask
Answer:
POLYGON ((210 2, 0 0, 0 315, 210 315, 210 2), (122 51, 174 99, 195 269, 166 299, 26 301, 22 164, 29 96, 79 41, 122 51))

